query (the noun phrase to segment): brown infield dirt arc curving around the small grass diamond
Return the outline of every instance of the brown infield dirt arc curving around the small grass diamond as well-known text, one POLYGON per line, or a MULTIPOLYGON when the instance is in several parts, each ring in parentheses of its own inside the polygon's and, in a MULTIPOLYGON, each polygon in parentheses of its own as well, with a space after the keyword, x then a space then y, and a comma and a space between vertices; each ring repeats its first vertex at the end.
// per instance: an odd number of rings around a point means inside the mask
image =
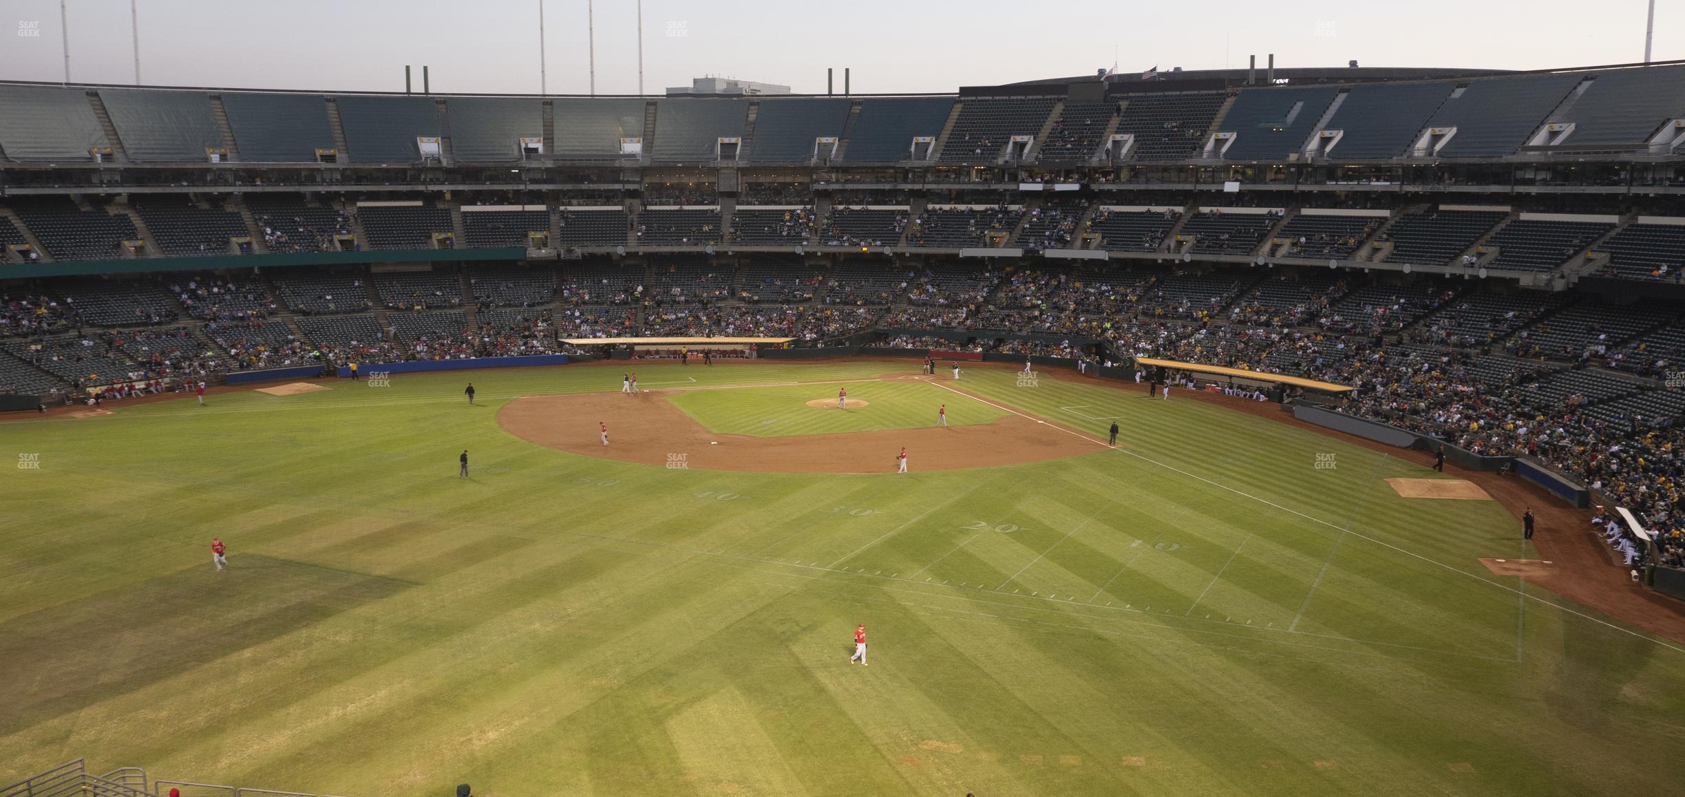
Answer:
MULTIPOLYGON (((836 399, 829 406, 836 408, 836 399)), ((522 396, 504 404, 497 423, 522 440, 588 457, 666 465, 669 455, 682 453, 689 468, 767 473, 890 473, 901 447, 907 447, 912 472, 1043 462, 1105 448, 1018 415, 950 428, 772 438, 719 435, 649 393, 637 401, 618 393, 522 396), (596 431, 598 421, 608 425, 607 447, 596 431)))

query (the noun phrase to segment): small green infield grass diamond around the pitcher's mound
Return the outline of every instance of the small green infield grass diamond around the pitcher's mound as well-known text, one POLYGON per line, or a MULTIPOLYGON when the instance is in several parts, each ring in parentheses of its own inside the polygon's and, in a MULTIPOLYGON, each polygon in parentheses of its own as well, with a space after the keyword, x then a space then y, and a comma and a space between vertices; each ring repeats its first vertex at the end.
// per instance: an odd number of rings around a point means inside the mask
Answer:
POLYGON ((709 431, 753 436, 925 428, 937 425, 940 406, 947 406, 949 426, 989 423, 1011 415, 923 381, 790 384, 666 396, 709 431), (848 388, 848 398, 864 401, 866 406, 837 411, 837 388, 848 388), (807 406, 816 399, 826 401, 826 406, 807 406))

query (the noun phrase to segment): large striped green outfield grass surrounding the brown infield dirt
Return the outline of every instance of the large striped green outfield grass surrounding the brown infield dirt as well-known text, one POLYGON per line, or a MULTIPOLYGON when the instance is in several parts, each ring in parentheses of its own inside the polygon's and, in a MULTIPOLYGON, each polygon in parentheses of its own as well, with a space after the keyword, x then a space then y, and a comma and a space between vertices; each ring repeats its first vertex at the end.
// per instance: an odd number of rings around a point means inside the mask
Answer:
MULTIPOLYGON (((917 366, 639 376, 896 369, 917 366)), ((39 455, 0 475, 0 782, 86 757, 356 797, 1685 784, 1685 650, 1490 575, 1478 556, 1530 554, 1518 522, 1382 482, 1434 475, 1417 465, 981 367, 960 386, 1085 431, 1115 418, 1126 445, 787 475, 576 457, 495 423, 514 396, 618 377, 399 374, 0 423, 7 458, 39 455), (869 669, 846 662, 856 622, 869 669)))

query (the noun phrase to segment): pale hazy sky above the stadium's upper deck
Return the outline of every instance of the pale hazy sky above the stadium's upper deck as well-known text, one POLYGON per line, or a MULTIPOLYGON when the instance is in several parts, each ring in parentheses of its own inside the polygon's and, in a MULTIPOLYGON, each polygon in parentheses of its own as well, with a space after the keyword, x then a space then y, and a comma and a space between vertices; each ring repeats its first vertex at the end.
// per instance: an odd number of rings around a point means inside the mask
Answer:
MULTIPOLYGON (((128 0, 67 0, 71 81, 133 83, 128 0)), ((538 93, 539 0, 138 0, 142 83, 538 93)), ((1643 59, 1646 0, 644 0, 644 91, 721 74, 856 93, 1277 66, 1545 69, 1643 59)), ((596 93, 637 91, 635 0, 596 0, 596 93)), ((57 0, 0 0, 0 79, 64 76, 57 0), (34 34, 34 35, 32 35, 34 34)), ((549 91, 583 94, 586 0, 544 0, 549 91)), ((1655 61, 1685 59, 1685 0, 1658 0, 1655 61)))

